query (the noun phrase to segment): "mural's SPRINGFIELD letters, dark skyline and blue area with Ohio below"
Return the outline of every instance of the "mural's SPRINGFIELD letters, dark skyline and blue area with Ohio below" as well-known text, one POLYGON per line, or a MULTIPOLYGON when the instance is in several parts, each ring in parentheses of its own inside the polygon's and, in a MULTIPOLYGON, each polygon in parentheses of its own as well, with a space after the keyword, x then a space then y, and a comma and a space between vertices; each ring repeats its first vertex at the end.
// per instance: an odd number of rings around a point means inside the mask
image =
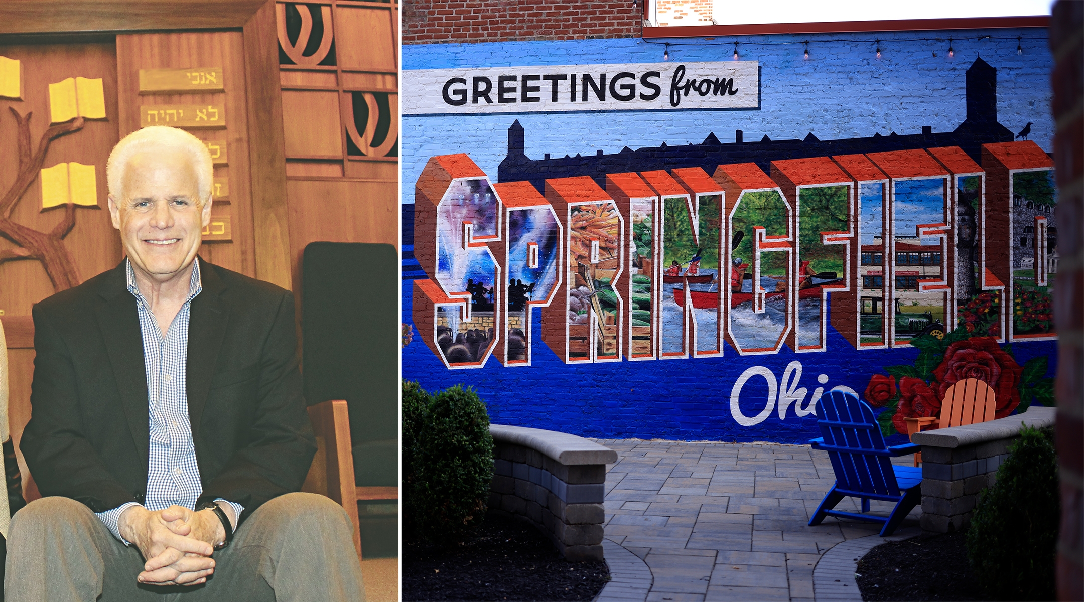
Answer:
MULTIPOLYGON (((449 152, 403 206, 420 333, 404 378, 472 384, 495 422, 593 436, 799 443, 831 389, 904 436, 971 377, 998 417, 1053 404, 1053 160, 998 123, 994 67, 964 77, 967 119, 937 134, 739 130, 531 159, 506 116, 499 182, 477 153, 426 145, 449 152)), ((607 115, 546 110, 555 126, 607 115)), ((569 131, 542 135, 559 147, 569 131)))

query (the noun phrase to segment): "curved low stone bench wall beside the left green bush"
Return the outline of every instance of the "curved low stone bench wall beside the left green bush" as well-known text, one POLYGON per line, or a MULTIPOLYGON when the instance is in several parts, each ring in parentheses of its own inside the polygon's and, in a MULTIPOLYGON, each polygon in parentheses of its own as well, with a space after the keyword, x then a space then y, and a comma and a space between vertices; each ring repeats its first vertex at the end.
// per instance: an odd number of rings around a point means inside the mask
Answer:
POLYGON ((526 518, 567 560, 603 560, 606 464, 617 462, 617 451, 542 429, 490 424, 489 432, 489 507, 526 518))

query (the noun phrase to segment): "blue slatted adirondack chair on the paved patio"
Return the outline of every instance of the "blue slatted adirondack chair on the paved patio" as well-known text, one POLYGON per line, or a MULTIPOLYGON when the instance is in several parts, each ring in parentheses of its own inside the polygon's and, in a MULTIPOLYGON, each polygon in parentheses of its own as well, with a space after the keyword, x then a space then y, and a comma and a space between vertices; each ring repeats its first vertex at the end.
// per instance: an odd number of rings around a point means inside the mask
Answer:
POLYGON ((873 409, 853 393, 830 391, 817 404, 817 416, 822 436, 810 444, 828 453, 836 484, 810 519, 810 526, 821 524, 830 514, 885 523, 880 536, 892 535, 921 501, 922 469, 895 466, 889 457, 914 454, 920 446, 913 443, 886 446, 873 409), (833 510, 844 497, 862 498, 863 513, 833 510), (870 499, 894 501, 895 508, 888 516, 866 514, 870 499))

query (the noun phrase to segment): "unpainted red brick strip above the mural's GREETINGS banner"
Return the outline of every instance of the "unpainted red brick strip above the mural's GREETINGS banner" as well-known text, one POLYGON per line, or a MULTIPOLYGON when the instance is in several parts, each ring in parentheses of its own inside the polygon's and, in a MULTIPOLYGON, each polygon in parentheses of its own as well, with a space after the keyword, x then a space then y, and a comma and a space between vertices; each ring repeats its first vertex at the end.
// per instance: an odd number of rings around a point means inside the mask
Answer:
POLYGON ((631 38, 644 5, 591 0, 403 0, 404 44, 631 38))

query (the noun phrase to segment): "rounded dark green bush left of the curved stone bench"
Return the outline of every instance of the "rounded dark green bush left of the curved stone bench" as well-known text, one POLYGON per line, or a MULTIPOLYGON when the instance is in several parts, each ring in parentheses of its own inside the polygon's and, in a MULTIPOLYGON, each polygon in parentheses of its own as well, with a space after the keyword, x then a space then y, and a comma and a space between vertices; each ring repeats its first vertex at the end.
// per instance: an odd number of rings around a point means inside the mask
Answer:
POLYGON ((493 479, 493 437, 486 404, 474 390, 455 385, 434 395, 412 466, 410 512, 421 537, 449 545, 481 522, 493 479))

